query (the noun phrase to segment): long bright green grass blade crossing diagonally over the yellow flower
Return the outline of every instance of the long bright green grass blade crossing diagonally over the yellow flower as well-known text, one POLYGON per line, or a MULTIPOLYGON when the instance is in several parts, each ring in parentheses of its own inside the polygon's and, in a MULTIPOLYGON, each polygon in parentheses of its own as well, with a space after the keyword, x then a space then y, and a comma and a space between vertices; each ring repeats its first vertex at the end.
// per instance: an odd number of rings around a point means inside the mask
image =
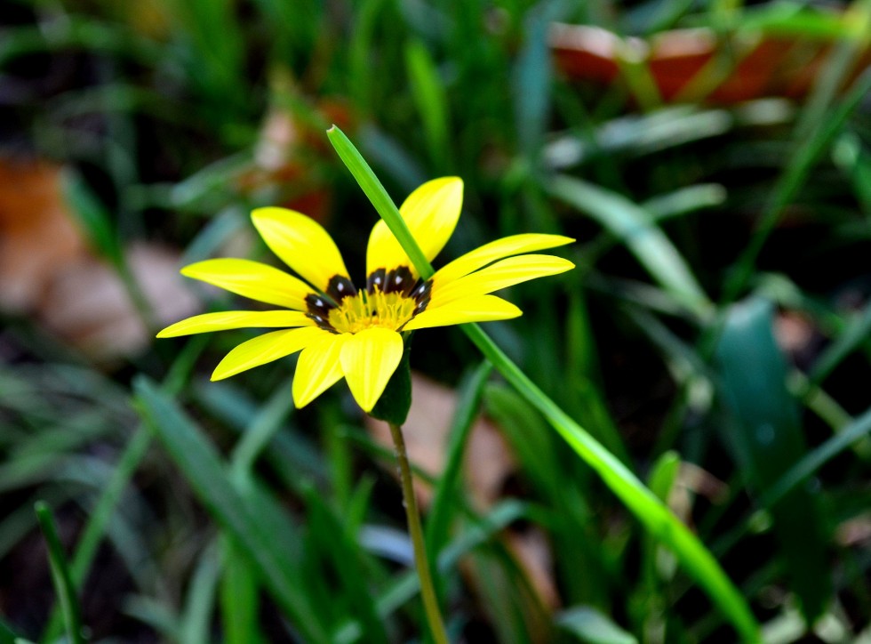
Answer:
MULTIPOLYGON (((432 276, 432 266, 421 253, 420 247, 405 226, 396 204, 372 172, 372 168, 338 127, 333 126, 327 135, 350 173, 364 190, 366 197, 369 197, 380 217, 387 223, 405 253, 414 262, 421 277, 426 279, 432 276)), ((620 463, 618 458, 575 423, 560 407, 557 407, 553 400, 547 398, 547 395, 539 390, 526 374, 523 374, 480 326, 468 324, 463 326, 463 330, 469 339, 475 342, 484 357, 491 361, 523 398, 526 398, 547 418, 548 423, 593 468, 651 535, 674 551, 683 568, 707 592, 710 599, 739 632, 741 639, 748 642, 761 641, 759 625, 750 612, 747 601, 725 575, 714 556, 689 528, 684 526, 656 495, 644 487, 635 474, 620 463)))

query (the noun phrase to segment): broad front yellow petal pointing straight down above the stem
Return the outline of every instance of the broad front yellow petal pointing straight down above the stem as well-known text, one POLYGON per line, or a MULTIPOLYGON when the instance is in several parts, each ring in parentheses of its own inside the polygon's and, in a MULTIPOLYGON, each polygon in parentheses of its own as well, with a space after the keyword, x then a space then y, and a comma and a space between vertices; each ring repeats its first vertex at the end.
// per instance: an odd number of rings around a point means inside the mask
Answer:
POLYGON ((390 329, 373 326, 345 342, 340 357, 342 372, 357 404, 367 414, 384 393, 402 358, 403 337, 390 329))

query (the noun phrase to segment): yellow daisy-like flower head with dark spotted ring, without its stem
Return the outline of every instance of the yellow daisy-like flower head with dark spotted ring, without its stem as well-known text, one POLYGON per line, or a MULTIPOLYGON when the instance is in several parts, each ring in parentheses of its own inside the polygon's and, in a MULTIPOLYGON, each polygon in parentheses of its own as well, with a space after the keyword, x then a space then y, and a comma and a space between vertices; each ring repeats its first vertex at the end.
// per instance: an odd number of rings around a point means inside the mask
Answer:
MULTIPOLYGON (((414 190, 399 209, 429 261, 451 237, 462 198, 462 181, 443 177, 414 190)), ((302 279, 239 259, 197 262, 181 273, 284 309, 206 313, 168 326, 157 337, 281 328, 231 350, 212 380, 301 351, 292 387, 297 407, 344 377, 360 407, 372 411, 402 358, 404 332, 515 318, 521 310, 492 292, 574 266, 552 255, 524 254, 573 239, 514 235, 462 255, 424 281, 384 221, 378 221, 366 249, 366 285, 358 289, 332 237, 316 221, 275 207, 253 211, 252 221, 267 246, 302 279)))

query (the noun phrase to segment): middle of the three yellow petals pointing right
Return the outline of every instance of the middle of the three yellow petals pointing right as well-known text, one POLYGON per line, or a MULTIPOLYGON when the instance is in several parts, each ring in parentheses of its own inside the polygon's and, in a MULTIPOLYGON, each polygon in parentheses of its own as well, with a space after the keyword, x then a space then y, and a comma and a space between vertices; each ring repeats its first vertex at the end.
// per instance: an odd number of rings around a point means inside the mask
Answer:
POLYGON ((514 286, 534 278, 556 275, 574 268, 574 264, 553 255, 519 255, 508 257, 442 286, 433 286, 429 306, 441 306, 468 295, 483 295, 514 286))

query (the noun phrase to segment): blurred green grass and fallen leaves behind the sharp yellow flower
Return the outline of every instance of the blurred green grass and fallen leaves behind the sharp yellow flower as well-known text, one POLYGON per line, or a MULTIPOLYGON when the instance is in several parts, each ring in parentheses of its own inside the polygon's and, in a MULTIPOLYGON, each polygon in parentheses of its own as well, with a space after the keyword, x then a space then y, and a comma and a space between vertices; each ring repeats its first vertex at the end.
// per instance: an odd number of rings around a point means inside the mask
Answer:
MULTIPOLYGON (((5 0, 0 641, 425 639, 383 428, 286 362, 208 382, 246 332, 151 340, 230 306, 182 263, 272 261, 258 205, 362 278, 332 123, 397 201, 464 179, 443 257, 577 237, 492 336, 766 641, 871 641, 869 42, 868 0, 5 0)), ((735 640, 462 334, 412 366, 453 639, 735 640)))

